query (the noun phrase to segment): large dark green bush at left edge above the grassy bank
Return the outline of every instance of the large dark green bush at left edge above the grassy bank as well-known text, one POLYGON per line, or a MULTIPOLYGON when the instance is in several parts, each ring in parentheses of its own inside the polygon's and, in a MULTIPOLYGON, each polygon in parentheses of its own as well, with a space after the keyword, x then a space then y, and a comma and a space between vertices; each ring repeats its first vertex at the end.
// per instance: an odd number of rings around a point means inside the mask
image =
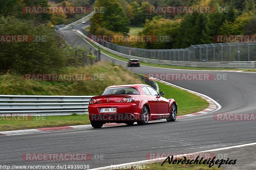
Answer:
MULTIPOLYGON (((0 43, 0 72, 49 73, 66 63, 65 42, 50 27, 32 21, 0 16, 0 35, 31 35, 44 38, 39 42, 0 43)), ((3 37, 2 37, 3 38, 3 37)))

